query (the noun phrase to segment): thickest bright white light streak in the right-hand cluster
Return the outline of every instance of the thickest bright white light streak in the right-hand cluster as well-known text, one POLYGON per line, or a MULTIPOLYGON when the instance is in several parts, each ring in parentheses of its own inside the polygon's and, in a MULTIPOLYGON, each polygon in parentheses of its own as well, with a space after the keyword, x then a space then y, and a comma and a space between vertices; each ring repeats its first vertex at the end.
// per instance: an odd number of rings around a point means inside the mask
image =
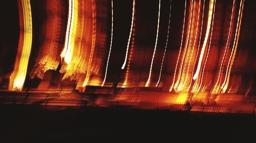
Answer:
POLYGON ((200 56, 199 56, 197 70, 196 70, 196 73, 195 73, 195 75, 193 77, 194 80, 197 79, 198 74, 199 74, 200 69, 201 69, 201 64, 202 64, 202 60, 203 60, 204 50, 205 50, 205 47, 206 47, 206 44, 207 44, 207 41, 208 41, 208 37, 209 37, 209 31, 210 31, 210 24, 211 24, 211 17, 212 17, 212 9, 213 9, 213 7, 214 7, 214 0, 210 0, 206 34, 205 34, 202 50, 201 50, 201 53, 200 53, 200 56))

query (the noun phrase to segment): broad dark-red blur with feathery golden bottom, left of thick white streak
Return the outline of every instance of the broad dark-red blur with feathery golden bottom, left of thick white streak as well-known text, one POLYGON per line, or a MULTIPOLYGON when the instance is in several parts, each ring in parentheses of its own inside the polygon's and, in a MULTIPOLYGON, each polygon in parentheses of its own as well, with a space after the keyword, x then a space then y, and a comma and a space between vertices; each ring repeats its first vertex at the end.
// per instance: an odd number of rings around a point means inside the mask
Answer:
MULTIPOLYGON (((42 42, 42 45, 39 47, 40 54, 38 54, 33 70, 30 72, 31 78, 38 77, 42 79, 46 71, 57 70, 60 62, 59 54, 62 48, 62 37, 60 33, 65 25, 62 24, 61 21, 65 19, 63 18, 65 13, 61 13, 64 9, 63 7, 58 7, 58 5, 63 5, 63 2, 61 0, 45 2, 46 9, 49 12, 45 14, 47 18, 42 24, 46 29, 44 29, 41 34, 42 40, 40 39, 40 41, 42 42)), ((71 6, 72 5, 70 5, 70 7, 71 6)), ((70 11, 71 9, 72 8, 70 8, 70 11)), ((71 13, 69 13, 69 15, 69 18, 71 18, 71 13)), ((69 28, 70 20, 68 23, 67 27, 69 28)), ((69 34, 69 31, 67 31, 67 34, 69 34)))

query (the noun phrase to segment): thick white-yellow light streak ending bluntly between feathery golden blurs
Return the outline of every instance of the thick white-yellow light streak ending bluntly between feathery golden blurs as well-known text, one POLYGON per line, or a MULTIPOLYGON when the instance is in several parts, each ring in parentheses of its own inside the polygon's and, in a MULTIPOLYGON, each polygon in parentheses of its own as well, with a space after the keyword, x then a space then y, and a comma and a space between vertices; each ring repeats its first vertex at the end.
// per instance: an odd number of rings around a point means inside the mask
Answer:
POLYGON ((64 57, 64 61, 67 64, 70 64, 73 50, 74 50, 74 45, 71 44, 71 42, 73 41, 72 33, 74 33, 72 32, 74 28, 74 19, 75 19, 74 13, 75 13, 75 0, 69 0, 69 18, 68 18, 67 32, 66 32, 66 38, 65 38, 65 46, 61 53, 61 57, 64 57))

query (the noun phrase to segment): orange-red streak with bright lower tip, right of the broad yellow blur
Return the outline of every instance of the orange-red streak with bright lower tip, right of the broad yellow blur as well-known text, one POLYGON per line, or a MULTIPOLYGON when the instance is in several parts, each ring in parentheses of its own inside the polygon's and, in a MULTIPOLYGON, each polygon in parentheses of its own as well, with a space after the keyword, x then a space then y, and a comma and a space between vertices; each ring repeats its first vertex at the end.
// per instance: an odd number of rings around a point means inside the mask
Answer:
POLYGON ((93 55, 94 55, 94 49, 95 49, 95 44, 96 44, 96 4, 95 0, 92 0, 92 46, 91 46, 91 52, 89 56, 89 62, 87 66, 87 73, 86 73, 86 79, 83 81, 82 87, 85 87, 89 81, 90 75, 91 75, 91 65, 93 61, 93 55))

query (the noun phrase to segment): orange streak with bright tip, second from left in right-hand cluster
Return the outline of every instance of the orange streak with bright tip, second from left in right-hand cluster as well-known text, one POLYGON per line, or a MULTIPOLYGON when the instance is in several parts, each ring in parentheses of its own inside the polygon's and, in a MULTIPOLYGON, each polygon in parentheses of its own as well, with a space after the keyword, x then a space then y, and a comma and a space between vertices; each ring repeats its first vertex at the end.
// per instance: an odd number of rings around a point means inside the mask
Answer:
POLYGON ((191 27, 191 16, 192 16, 192 11, 193 10, 193 2, 190 6, 190 9, 189 9, 189 13, 190 13, 190 16, 189 16, 189 24, 188 24, 188 34, 187 34, 187 37, 186 37, 186 41, 185 41, 185 50, 183 51, 183 56, 182 56, 182 62, 181 62, 181 66, 180 66, 180 70, 179 70, 179 75, 178 75, 178 81, 176 81, 175 85, 174 85, 174 89, 175 90, 178 90, 178 91, 181 91, 181 87, 180 87, 180 78, 181 78, 181 71, 183 69, 183 62, 184 62, 184 59, 185 59, 185 55, 186 55, 186 51, 187 51, 187 44, 188 44, 188 39, 189 39, 189 34, 190 34, 190 27, 191 27), (179 85, 179 87, 178 87, 179 85), (178 87, 178 89, 177 89, 178 87))

